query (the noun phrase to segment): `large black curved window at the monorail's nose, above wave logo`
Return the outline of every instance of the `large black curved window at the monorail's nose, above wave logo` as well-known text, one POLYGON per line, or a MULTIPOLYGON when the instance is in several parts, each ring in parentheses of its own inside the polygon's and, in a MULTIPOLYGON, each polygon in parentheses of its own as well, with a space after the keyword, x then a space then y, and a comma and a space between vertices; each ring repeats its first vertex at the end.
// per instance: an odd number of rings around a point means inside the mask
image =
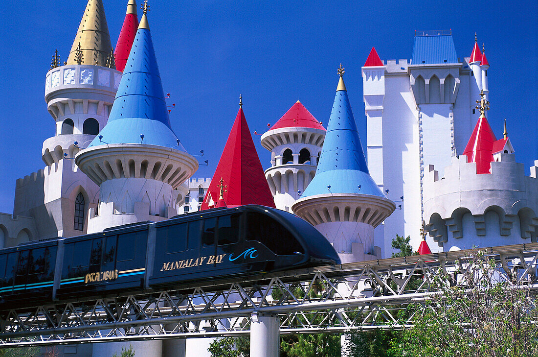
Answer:
POLYGON ((304 253, 301 244, 286 228, 258 212, 247 213, 246 239, 263 243, 277 255, 304 253))

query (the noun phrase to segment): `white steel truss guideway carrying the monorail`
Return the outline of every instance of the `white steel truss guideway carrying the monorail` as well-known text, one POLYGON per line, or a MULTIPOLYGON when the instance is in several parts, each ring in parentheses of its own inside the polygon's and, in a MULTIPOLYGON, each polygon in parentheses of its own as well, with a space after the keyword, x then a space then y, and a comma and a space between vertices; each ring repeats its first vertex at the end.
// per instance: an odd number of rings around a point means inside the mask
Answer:
MULTIPOLYGON (((500 279, 538 290, 538 243, 486 248, 500 279)), ((0 312, 0 347, 246 335, 277 316, 280 333, 411 326, 410 303, 464 281, 473 250, 328 265, 0 312)))

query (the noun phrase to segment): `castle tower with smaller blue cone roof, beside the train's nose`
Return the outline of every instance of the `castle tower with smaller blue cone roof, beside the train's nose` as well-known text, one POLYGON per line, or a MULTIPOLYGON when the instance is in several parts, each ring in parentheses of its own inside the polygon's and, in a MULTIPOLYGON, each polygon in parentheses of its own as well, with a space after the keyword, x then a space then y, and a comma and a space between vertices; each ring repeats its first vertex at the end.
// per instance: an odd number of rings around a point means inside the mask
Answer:
POLYGON ((344 68, 327 126, 316 176, 293 212, 314 225, 332 243, 343 263, 381 257, 373 229, 394 211, 366 166, 348 92, 344 68))

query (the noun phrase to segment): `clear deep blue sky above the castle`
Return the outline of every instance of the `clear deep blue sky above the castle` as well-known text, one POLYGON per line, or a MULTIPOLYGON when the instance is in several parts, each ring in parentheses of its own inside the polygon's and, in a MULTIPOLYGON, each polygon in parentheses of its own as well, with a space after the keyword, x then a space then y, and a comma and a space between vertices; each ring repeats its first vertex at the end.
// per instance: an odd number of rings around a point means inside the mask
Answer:
MULTIPOLYGON (((140 1, 138 1, 140 2, 140 1)), ((127 0, 104 0, 115 45, 127 0)), ((486 45, 495 135, 506 117, 516 160, 538 157, 538 5, 506 2, 151 1, 149 22, 171 122, 190 153, 203 149, 194 177, 211 177, 237 114, 239 94, 251 131, 264 132, 300 99, 327 124, 346 68, 353 113, 366 144, 360 67, 372 46, 381 59, 410 58, 415 30, 452 29, 458 57, 475 32, 486 45)), ((0 212, 11 213, 15 180, 44 167, 43 141, 54 135, 44 101, 45 74, 58 48, 66 60, 86 0, 17 1, 0 7, 2 114, 0 212)), ((264 167, 270 153, 254 136, 264 167)))

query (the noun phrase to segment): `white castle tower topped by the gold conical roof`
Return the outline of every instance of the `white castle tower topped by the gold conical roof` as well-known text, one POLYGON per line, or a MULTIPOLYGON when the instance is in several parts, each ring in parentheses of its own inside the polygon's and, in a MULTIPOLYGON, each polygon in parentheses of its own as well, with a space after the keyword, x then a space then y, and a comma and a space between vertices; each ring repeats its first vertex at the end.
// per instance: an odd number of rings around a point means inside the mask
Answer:
POLYGON ((16 188, 13 213, 34 217, 39 238, 87 231, 86 212, 97 203, 98 186, 72 158, 107 123, 121 78, 111 50, 103 3, 89 0, 67 64, 56 52, 46 75, 45 101, 55 130, 43 143, 45 169, 16 188))

